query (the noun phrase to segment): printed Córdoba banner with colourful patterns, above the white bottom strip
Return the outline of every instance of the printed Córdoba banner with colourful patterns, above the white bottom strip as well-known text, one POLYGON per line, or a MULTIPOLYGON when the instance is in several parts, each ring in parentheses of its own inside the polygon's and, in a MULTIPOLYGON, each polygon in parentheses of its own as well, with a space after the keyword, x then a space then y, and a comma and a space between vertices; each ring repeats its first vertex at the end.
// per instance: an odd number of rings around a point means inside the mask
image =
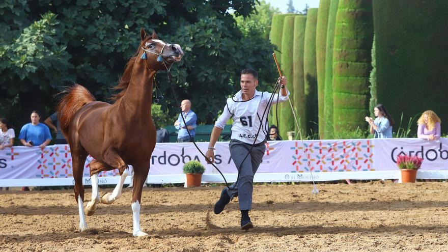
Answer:
MULTIPOLYGON (((208 143, 198 143, 206 151, 208 143)), ((222 173, 237 173, 230 157, 229 143, 216 143, 215 162, 222 173)), ((337 173, 396 171, 395 158, 400 153, 422 156, 422 170, 448 170, 448 139, 350 139, 313 141, 273 141, 266 143, 266 153, 257 173, 337 173)), ((83 176, 90 177, 86 160, 83 176)), ((217 174, 211 164, 190 143, 157 144, 151 156, 151 175, 183 174, 189 160, 199 160, 206 174, 217 174)), ((117 176, 118 170, 102 172, 100 177, 117 176)), ((38 147, 16 146, 0 150, 0 179, 71 178, 72 162, 68 145, 38 147)))

